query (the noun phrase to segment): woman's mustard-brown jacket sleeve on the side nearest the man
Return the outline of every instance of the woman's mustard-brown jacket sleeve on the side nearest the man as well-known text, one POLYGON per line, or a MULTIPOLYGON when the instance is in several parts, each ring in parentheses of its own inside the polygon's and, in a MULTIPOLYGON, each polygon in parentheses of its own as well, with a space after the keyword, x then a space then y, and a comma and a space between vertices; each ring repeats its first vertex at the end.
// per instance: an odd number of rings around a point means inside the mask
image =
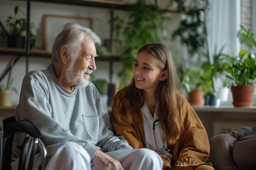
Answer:
MULTIPOLYGON (((118 94, 117 94, 118 95, 118 94)), ((139 134, 139 130, 136 130, 135 127, 132 125, 128 124, 125 120, 118 120, 117 115, 120 115, 121 113, 118 111, 117 106, 120 106, 121 103, 119 100, 115 100, 113 107, 112 107, 112 112, 111 112, 111 117, 110 117, 110 122, 111 126, 113 128, 113 132, 117 136, 124 136, 124 138, 128 141, 128 143, 134 148, 143 148, 142 140, 141 140, 141 135, 139 134)))

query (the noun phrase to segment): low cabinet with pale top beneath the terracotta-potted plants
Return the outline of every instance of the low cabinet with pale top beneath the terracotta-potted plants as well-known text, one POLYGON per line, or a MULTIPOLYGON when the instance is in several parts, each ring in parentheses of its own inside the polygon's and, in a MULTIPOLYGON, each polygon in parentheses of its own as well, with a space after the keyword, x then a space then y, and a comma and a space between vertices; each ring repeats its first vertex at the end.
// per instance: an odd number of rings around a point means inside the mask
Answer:
POLYGON ((256 107, 234 106, 203 106, 193 109, 202 121, 208 138, 219 134, 228 133, 242 127, 254 127, 256 124, 256 107))

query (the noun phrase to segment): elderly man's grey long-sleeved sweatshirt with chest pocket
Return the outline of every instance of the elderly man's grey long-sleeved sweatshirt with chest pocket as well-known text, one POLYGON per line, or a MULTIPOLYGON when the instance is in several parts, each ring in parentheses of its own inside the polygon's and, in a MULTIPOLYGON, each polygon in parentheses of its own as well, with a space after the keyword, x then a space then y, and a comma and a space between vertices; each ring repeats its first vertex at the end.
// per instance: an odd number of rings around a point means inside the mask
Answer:
MULTIPOLYGON (((15 112, 17 121, 28 120, 39 129, 45 146, 72 141, 83 146, 91 159, 99 149, 110 152, 131 148, 126 140, 114 136, 96 87, 89 82, 68 92, 57 81, 52 64, 46 70, 26 74, 15 112)), ((14 159, 19 157, 17 146, 23 138, 23 134, 14 137, 14 159)))

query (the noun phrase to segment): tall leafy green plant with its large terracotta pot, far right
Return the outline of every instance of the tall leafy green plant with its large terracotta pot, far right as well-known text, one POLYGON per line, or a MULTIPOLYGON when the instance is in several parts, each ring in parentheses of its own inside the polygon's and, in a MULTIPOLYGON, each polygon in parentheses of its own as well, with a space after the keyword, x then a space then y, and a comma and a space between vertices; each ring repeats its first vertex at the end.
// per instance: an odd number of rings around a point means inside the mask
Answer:
POLYGON ((241 49, 235 57, 224 55, 223 65, 226 76, 232 80, 233 105, 250 107, 253 105, 253 84, 256 83, 256 59, 252 51, 256 41, 250 29, 242 25, 240 28, 237 37, 240 43, 248 47, 248 50, 241 49))

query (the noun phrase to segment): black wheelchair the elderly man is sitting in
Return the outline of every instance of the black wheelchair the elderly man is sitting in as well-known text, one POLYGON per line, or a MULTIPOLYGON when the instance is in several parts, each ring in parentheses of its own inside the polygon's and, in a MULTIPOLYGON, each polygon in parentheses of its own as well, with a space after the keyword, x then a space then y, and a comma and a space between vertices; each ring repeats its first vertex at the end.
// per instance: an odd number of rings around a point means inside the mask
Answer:
POLYGON ((37 147, 41 153, 41 165, 39 170, 43 170, 46 165, 46 148, 40 139, 41 133, 29 121, 16 121, 15 117, 3 120, 1 127, 1 153, 0 169, 11 170, 12 142, 15 134, 26 133, 19 157, 18 170, 32 170, 37 147))

